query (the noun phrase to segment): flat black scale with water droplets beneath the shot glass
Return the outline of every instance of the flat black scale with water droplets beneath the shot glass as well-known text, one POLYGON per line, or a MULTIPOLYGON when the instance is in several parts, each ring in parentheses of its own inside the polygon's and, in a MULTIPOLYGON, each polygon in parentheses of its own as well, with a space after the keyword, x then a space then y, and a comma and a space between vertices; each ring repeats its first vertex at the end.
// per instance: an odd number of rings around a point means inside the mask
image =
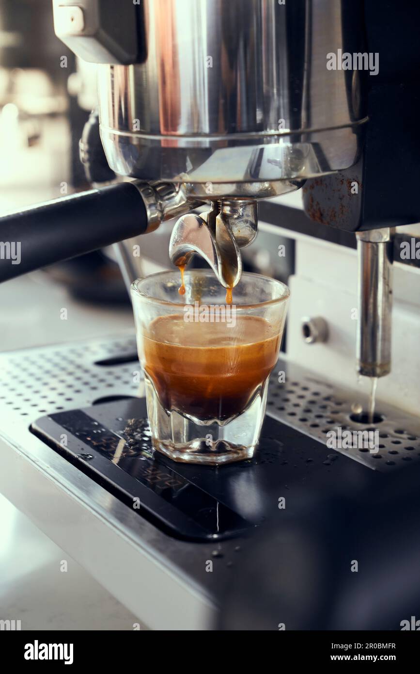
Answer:
POLYGON ((31 431, 140 516, 193 541, 254 528, 278 507, 277 493, 308 483, 328 489, 372 472, 271 417, 252 460, 218 468, 174 462, 151 446, 144 398, 58 412, 31 431))

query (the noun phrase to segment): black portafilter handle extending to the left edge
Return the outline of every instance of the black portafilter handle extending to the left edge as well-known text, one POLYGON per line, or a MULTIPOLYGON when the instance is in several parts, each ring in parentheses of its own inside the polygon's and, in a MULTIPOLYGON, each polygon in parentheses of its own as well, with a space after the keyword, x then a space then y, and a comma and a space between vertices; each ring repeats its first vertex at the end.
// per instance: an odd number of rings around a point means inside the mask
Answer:
POLYGON ((0 282, 144 234, 135 183, 117 183, 0 218, 0 282))

